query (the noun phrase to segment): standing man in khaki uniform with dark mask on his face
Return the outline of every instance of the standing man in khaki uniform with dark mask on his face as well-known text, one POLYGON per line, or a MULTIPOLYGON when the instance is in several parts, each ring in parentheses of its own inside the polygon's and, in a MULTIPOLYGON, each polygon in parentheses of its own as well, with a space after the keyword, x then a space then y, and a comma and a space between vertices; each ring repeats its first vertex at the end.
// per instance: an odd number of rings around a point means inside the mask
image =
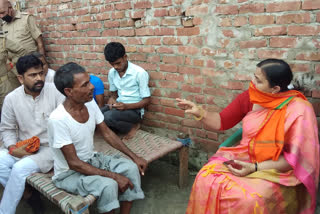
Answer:
MULTIPOLYGON (((27 54, 38 51, 46 55, 42 33, 34 16, 14 10, 8 0, 0 0, 0 18, 3 20, 2 30, 8 31, 7 38, 22 46, 27 54)), ((9 58, 15 63, 19 56, 9 54, 9 58)))

